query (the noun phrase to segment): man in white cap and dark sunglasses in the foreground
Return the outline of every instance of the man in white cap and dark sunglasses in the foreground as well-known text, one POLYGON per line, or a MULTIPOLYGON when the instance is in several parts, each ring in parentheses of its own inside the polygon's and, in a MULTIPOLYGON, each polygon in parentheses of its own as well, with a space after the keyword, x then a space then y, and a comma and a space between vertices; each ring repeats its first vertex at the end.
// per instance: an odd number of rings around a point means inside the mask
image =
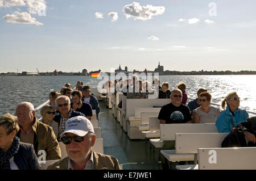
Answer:
POLYGON ((96 136, 92 123, 86 117, 72 117, 67 121, 61 141, 65 144, 68 157, 48 166, 48 170, 119 170, 118 160, 110 155, 93 151, 96 136))

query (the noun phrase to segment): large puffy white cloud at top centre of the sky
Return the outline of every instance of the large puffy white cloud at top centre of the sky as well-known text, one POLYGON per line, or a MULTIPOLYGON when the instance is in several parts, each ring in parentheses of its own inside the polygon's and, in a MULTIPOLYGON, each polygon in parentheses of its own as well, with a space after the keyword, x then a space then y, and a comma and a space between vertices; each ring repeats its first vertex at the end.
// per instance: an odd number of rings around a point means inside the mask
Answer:
POLYGON ((162 15, 166 8, 164 6, 141 6, 138 2, 133 2, 130 5, 123 7, 123 12, 125 12, 126 19, 133 17, 134 20, 148 20, 152 16, 162 15))

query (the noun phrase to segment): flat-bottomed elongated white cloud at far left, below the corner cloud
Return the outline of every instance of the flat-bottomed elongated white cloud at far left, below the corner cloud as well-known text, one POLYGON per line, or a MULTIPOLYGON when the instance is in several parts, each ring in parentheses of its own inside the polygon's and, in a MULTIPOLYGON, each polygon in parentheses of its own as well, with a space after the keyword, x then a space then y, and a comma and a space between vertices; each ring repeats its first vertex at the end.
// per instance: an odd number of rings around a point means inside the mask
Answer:
POLYGON ((36 26, 43 25, 32 18, 27 12, 15 12, 14 14, 7 14, 3 16, 3 20, 7 23, 20 23, 20 24, 35 24, 36 26))

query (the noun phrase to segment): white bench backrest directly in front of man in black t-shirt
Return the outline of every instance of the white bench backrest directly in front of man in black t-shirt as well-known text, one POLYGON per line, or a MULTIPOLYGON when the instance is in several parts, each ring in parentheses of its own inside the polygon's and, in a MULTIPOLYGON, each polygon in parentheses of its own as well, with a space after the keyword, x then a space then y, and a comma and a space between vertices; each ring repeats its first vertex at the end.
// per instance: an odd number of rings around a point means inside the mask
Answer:
POLYGON ((160 138, 163 141, 175 140, 176 133, 217 133, 214 123, 160 124, 160 138))

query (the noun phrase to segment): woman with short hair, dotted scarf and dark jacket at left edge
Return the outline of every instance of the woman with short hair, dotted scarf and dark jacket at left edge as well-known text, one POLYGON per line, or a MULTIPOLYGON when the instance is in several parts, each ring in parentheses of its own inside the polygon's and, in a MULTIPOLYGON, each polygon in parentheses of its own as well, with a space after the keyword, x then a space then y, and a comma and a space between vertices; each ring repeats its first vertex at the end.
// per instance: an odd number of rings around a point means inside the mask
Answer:
POLYGON ((19 141, 17 117, 6 113, 0 117, 0 170, 39 170, 41 166, 34 146, 19 141))

